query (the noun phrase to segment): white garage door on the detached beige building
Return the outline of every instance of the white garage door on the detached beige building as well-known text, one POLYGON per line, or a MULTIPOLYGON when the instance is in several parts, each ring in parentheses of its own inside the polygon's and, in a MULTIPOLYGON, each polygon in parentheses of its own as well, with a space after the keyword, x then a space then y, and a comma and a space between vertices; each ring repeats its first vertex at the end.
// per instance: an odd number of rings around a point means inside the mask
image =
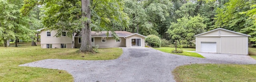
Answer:
POLYGON ((201 52, 216 53, 216 42, 201 42, 201 52))

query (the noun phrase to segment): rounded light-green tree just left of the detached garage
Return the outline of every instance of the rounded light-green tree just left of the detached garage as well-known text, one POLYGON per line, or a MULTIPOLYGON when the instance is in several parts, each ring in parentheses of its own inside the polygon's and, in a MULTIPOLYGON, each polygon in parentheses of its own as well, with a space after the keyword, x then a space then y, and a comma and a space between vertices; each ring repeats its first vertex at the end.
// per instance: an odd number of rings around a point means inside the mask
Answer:
POLYGON ((178 41, 183 47, 191 47, 193 44, 190 42, 195 39, 194 35, 206 31, 204 18, 200 15, 195 17, 184 17, 172 22, 168 31, 171 41, 178 41))

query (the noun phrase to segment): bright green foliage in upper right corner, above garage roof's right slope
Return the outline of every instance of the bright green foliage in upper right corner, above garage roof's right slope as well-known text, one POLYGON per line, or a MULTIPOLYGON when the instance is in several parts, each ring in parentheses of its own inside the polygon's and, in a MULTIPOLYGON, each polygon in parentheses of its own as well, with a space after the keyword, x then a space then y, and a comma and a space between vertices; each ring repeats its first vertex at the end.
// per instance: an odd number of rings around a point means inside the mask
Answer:
POLYGON ((216 10, 214 27, 249 34, 250 41, 256 42, 255 3, 255 0, 230 0, 216 10))

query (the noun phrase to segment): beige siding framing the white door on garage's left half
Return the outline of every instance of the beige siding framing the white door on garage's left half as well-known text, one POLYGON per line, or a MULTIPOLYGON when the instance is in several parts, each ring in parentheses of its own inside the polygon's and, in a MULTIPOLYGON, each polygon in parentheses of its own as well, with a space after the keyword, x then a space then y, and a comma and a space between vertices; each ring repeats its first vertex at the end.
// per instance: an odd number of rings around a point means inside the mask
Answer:
POLYGON ((220 37, 196 37, 196 52, 201 52, 201 42, 216 42, 217 53, 220 53, 220 37))

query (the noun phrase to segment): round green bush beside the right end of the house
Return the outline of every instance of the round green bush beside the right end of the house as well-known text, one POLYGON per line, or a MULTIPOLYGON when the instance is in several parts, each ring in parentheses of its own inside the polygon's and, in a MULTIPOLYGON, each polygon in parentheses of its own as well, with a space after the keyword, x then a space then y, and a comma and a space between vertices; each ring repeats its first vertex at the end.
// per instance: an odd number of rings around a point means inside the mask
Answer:
POLYGON ((161 40, 156 35, 148 35, 145 39, 146 43, 151 47, 160 47, 161 40))

